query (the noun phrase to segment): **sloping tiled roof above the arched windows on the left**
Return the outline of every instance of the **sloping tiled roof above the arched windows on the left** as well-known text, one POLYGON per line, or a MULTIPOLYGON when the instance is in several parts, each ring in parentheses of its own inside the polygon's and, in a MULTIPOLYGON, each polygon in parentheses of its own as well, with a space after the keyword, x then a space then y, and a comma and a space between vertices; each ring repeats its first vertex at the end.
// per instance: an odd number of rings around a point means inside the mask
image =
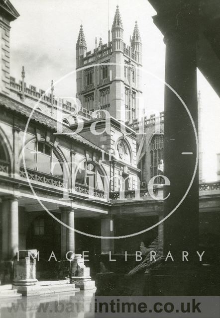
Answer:
MULTIPOLYGON (((26 118, 29 118, 30 113, 32 109, 23 103, 20 103, 18 101, 15 101, 14 99, 11 99, 9 97, 6 97, 2 94, 0 94, 0 107, 5 107, 7 109, 10 109, 11 111, 14 111, 16 113, 19 113, 26 118)), ((35 110, 31 116, 31 121, 40 123, 54 131, 57 131, 57 122, 53 118, 44 115, 37 110, 35 110)), ((95 144, 91 143, 86 138, 80 136, 79 134, 73 134, 73 131, 68 128, 67 126, 63 125, 63 133, 67 134, 65 136, 68 136, 71 139, 74 139, 75 141, 87 145, 90 148, 93 148, 98 151, 103 151, 100 147, 96 146, 95 144)))

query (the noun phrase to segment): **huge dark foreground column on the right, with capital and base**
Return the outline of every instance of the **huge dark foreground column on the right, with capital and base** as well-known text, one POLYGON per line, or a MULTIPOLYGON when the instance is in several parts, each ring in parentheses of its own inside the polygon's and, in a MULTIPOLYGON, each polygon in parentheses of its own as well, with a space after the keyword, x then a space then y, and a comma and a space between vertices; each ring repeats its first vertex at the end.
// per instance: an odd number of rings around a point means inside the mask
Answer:
POLYGON ((183 1, 178 8, 167 7, 165 13, 162 3, 154 17, 154 23, 165 36, 165 82, 170 85, 165 85, 164 106, 164 176, 170 181, 169 186, 164 184, 164 217, 177 209, 164 222, 164 262, 150 271, 150 296, 197 295, 200 290, 201 280, 196 280, 195 266, 195 261, 199 264, 197 142, 190 116, 177 96, 188 107, 198 134, 197 4, 183 1), (188 262, 183 262, 182 251, 189 253, 188 262), (166 258, 168 252, 172 258, 166 258))

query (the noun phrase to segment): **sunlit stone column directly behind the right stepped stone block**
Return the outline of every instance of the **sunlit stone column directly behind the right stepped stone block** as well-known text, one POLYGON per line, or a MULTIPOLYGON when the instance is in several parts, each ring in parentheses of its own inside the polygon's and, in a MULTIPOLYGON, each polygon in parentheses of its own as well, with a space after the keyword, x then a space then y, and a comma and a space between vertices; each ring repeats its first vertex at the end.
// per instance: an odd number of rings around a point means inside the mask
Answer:
MULTIPOLYGON (((67 226, 74 229, 74 210, 71 207, 62 207, 61 221, 67 226)), ((66 258, 68 251, 75 252, 75 233, 73 230, 61 225, 61 257, 66 258)), ((71 253, 68 254, 68 258, 71 257, 71 253)))

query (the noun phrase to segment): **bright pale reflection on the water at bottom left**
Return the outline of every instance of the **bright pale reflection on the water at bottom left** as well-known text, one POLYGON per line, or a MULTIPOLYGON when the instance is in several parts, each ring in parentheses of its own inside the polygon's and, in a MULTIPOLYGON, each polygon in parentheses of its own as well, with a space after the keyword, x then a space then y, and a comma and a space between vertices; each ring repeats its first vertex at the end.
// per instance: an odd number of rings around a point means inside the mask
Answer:
POLYGON ((0 318, 93 318, 94 312, 92 290, 0 300, 0 318))

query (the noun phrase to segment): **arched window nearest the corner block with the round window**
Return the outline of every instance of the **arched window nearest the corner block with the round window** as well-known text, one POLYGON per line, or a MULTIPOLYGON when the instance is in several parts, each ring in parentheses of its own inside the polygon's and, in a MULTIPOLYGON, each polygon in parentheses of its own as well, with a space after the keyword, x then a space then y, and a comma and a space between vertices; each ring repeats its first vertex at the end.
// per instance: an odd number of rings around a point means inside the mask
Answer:
POLYGON ((76 174, 76 182, 104 191, 104 174, 93 161, 86 161, 76 174))

